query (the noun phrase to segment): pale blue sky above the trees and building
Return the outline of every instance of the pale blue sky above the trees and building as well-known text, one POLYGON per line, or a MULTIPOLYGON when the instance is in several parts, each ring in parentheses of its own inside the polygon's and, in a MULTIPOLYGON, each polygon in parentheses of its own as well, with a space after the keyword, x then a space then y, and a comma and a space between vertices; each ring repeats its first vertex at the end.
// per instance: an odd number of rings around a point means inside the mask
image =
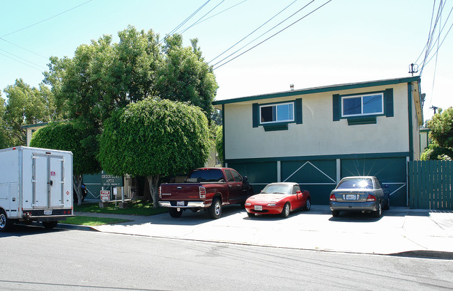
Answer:
MULTIPOLYGON (((112 35, 116 42, 118 31, 128 24, 137 29, 153 29, 161 37, 165 36, 207 0, 87 1, 0 0, 2 91, 18 78, 38 86, 43 79, 42 73, 47 70, 49 56, 72 57, 77 46, 97 40, 103 34, 112 35), (71 8, 74 9, 69 10, 71 8)), ((284 29, 326 1, 211 0, 178 31, 191 26, 214 8, 205 21, 183 33, 185 45, 190 45, 191 38, 198 38, 206 61, 211 61, 292 3, 227 54, 210 62, 214 65, 307 3, 307 8, 245 49, 284 29), (227 8, 230 9, 220 13, 227 8), (208 18, 210 16, 213 17, 208 18)), ((302 89, 410 77, 409 64, 417 61, 428 40, 433 3, 434 0, 332 0, 277 36, 216 68, 214 72, 220 86, 216 99, 288 91, 290 84, 294 84, 295 89, 302 89)), ((437 11, 440 0, 435 3, 437 11)), ((445 24, 445 29, 440 33, 440 40, 453 24, 453 13, 447 19, 453 3, 443 3, 438 26, 445 24)), ((437 30, 436 37, 438 33, 437 30)), ((429 55, 433 58, 422 72, 422 93, 427 94, 425 119, 433 114, 429 109, 431 105, 444 109, 453 106, 450 90, 453 29, 438 49, 437 62, 436 50, 437 45, 429 55)), ((423 56, 424 52, 417 61, 420 68, 423 56)), ((5 97, 3 92, 2 96, 5 97)))

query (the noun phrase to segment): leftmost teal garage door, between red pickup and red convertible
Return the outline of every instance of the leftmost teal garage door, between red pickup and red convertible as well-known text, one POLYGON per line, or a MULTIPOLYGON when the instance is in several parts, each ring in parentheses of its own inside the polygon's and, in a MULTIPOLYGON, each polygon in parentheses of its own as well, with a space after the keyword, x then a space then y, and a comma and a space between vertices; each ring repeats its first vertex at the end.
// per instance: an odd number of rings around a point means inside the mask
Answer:
POLYGON ((255 194, 267 184, 277 182, 277 162, 228 163, 228 166, 247 176, 255 194))

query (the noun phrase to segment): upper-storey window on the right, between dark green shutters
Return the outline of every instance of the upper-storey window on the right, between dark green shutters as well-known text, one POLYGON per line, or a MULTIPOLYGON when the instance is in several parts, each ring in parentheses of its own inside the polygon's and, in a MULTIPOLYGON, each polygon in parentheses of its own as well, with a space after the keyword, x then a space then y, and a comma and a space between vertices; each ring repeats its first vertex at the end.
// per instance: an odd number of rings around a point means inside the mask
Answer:
POLYGON ((341 116, 364 116, 384 113, 383 93, 341 97, 341 116))

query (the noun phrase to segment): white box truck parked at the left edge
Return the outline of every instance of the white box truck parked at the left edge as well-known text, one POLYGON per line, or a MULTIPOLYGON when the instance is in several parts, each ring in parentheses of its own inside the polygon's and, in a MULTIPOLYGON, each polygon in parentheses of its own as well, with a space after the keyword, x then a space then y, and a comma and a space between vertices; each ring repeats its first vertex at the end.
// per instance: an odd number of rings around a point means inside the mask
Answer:
POLYGON ((0 231, 17 221, 54 228, 72 216, 72 152, 25 146, 0 150, 0 231))

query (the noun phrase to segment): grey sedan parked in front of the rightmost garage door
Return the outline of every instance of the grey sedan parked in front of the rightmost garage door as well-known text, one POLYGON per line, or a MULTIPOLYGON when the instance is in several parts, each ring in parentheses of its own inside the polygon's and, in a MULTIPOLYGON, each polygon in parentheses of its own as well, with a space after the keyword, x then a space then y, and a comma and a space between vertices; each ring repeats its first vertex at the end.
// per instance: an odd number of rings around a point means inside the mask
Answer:
POLYGON ((340 211, 359 210, 371 211, 374 217, 381 217, 382 210, 389 207, 389 195, 374 176, 343 178, 330 192, 330 210, 334 217, 340 211))

